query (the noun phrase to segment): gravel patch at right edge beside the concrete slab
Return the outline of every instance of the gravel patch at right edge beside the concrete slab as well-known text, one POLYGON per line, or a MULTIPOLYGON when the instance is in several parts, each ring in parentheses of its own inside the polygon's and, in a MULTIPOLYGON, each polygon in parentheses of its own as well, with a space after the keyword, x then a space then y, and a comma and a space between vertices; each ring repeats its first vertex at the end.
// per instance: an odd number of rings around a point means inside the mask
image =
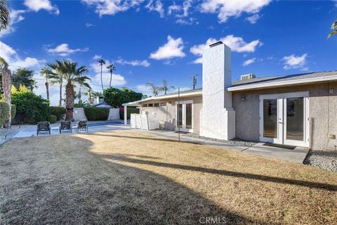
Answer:
POLYGON ((303 164, 337 172, 337 151, 310 150, 303 164))

